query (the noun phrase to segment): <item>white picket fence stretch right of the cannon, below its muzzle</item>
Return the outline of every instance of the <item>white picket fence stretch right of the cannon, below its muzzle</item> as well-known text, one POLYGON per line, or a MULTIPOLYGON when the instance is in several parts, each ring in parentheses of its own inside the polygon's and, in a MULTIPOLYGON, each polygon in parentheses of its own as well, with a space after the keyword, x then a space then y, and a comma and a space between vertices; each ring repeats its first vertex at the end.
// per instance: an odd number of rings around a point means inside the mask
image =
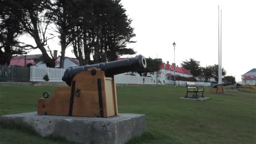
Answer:
POLYGON ((131 84, 164 84, 163 78, 153 78, 153 77, 140 77, 133 75, 115 75, 116 83, 131 83, 131 84))

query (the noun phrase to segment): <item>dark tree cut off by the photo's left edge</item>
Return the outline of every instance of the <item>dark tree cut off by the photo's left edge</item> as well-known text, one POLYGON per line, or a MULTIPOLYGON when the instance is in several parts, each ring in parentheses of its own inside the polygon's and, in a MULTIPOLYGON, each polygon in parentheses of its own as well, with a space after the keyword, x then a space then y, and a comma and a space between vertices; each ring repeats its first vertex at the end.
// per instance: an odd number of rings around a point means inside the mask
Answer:
POLYGON ((15 13, 0 0, 0 64, 9 65, 13 55, 26 53, 26 48, 19 47, 21 34, 22 28, 15 13))

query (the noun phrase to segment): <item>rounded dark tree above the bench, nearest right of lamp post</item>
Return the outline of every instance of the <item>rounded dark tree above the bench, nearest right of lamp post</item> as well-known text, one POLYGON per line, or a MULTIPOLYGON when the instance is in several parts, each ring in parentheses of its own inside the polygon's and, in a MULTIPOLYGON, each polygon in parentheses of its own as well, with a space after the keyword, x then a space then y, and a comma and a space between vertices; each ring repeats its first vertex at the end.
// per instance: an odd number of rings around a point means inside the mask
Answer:
POLYGON ((194 77, 199 76, 202 73, 202 68, 200 67, 200 61, 190 58, 189 61, 182 61, 181 66, 185 69, 190 69, 190 72, 194 77))

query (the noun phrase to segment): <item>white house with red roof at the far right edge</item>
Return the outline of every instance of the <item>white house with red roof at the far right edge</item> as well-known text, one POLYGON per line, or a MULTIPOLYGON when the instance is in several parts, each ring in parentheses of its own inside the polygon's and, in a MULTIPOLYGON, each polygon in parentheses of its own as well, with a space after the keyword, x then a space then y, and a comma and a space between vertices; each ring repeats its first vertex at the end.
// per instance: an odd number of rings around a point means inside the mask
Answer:
POLYGON ((256 85, 256 69, 251 69, 242 75, 243 85, 256 85))

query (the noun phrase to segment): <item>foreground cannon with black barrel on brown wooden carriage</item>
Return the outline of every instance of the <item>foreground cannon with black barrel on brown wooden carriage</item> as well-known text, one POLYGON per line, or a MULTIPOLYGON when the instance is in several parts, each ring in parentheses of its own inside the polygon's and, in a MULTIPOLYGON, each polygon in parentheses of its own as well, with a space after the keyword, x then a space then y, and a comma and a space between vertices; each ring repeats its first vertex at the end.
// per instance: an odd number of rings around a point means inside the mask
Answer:
POLYGON ((62 80, 68 87, 57 87, 53 97, 44 92, 37 101, 38 115, 111 117, 118 115, 115 77, 147 67, 144 56, 100 64, 70 67, 62 80))

